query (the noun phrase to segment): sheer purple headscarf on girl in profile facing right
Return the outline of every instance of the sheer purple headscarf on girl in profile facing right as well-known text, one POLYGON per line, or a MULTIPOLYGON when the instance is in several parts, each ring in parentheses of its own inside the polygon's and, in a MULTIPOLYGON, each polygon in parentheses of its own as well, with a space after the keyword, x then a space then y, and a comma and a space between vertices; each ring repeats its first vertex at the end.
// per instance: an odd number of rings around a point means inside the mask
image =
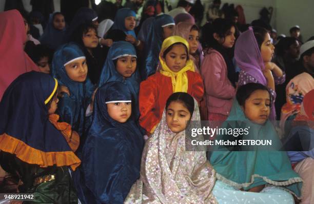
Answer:
POLYGON ((241 70, 256 78, 260 84, 267 86, 262 72, 265 65, 252 27, 243 32, 235 42, 234 58, 241 70))

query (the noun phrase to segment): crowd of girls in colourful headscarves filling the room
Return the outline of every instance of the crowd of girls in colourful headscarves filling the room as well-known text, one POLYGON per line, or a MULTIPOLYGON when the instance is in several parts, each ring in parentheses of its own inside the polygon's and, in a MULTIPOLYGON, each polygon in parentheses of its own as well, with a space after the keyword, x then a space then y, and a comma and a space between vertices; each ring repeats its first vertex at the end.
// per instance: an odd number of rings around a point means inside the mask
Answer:
POLYGON ((240 32, 219 17, 200 28, 192 1, 179 3, 140 25, 129 8, 100 24, 81 8, 69 26, 55 12, 39 42, 24 15, 0 13, 1 193, 33 193, 34 203, 314 202, 314 40, 303 44, 296 26, 280 40, 263 25, 240 32), (187 121, 201 119, 307 148, 187 151, 187 121))

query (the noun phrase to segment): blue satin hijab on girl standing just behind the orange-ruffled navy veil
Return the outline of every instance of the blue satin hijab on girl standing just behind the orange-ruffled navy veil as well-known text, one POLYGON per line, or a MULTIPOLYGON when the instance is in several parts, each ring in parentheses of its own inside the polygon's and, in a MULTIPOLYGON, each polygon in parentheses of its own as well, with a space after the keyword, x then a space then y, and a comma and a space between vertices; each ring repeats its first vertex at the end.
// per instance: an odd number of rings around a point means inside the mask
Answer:
POLYGON ((70 91, 70 96, 63 94, 60 98, 57 113, 61 121, 70 124, 72 130, 82 138, 88 126, 85 112, 90 104, 94 86, 88 77, 84 83, 73 81, 68 77, 64 64, 78 57, 85 57, 85 55, 77 44, 68 43, 61 46, 53 55, 52 74, 60 85, 66 86, 70 91))

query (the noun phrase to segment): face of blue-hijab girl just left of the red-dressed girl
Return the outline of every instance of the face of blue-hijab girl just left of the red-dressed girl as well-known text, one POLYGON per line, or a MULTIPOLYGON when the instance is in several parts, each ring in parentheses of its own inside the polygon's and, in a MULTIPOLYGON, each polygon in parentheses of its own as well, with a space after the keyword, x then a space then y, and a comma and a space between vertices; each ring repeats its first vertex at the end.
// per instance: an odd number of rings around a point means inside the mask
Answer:
POLYGON ((124 78, 131 77, 136 69, 136 57, 123 56, 116 61, 116 71, 124 78))

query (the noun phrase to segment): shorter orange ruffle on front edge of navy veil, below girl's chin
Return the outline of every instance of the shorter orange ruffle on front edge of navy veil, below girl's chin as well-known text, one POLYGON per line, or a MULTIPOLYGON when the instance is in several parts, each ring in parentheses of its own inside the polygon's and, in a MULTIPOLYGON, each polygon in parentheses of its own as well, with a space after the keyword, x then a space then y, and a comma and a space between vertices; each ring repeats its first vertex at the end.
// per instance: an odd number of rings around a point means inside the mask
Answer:
POLYGON ((77 132, 72 131, 72 127, 70 124, 62 122, 58 123, 60 116, 57 114, 49 115, 49 121, 52 125, 57 129, 60 130, 63 134, 64 138, 67 140, 70 148, 75 152, 80 145, 80 135, 77 132))

